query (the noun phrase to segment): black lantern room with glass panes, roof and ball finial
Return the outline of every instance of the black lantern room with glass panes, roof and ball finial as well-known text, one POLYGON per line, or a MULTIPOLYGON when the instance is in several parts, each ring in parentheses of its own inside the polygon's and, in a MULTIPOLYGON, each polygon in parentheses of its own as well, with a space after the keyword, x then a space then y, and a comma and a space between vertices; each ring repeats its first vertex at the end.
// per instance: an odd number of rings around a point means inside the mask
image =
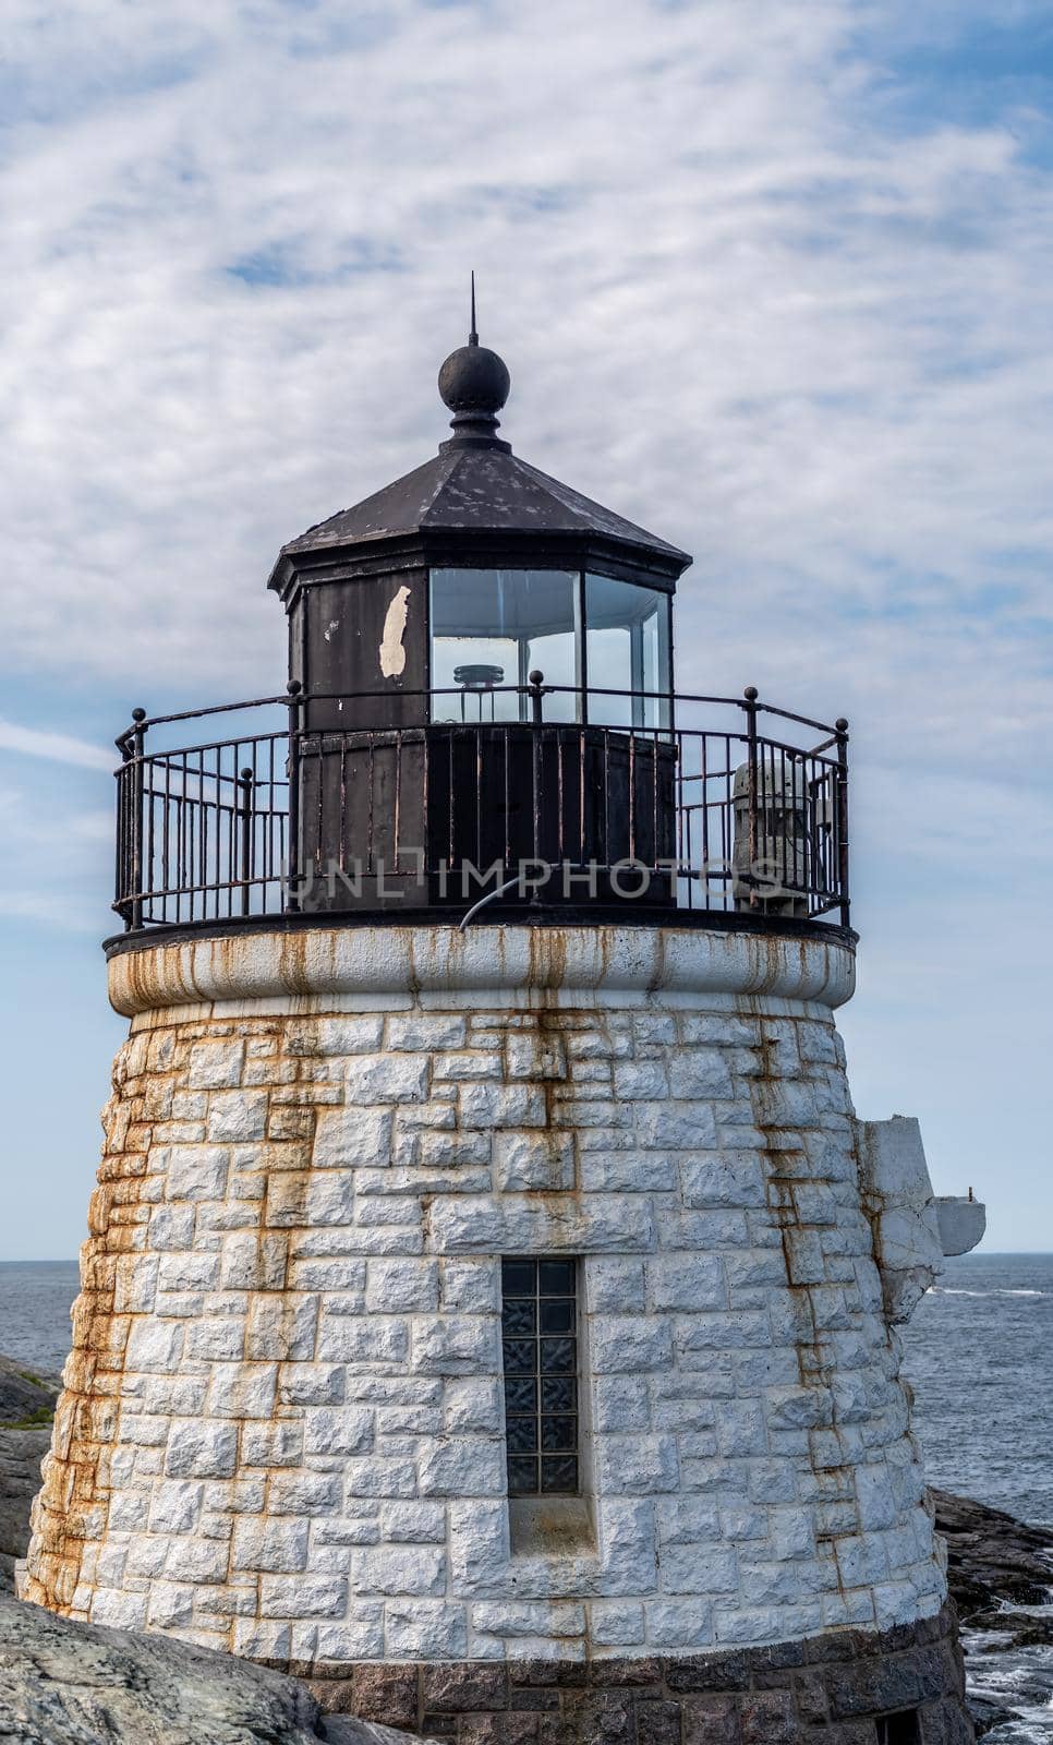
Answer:
MULTIPOLYGON (((439 372, 438 455, 295 539, 272 576, 321 907, 404 904, 422 878, 427 904, 462 902, 493 862, 673 853, 671 609, 690 558, 513 455, 507 391, 472 318, 439 372)), ((669 892, 659 878, 652 897, 669 892)))

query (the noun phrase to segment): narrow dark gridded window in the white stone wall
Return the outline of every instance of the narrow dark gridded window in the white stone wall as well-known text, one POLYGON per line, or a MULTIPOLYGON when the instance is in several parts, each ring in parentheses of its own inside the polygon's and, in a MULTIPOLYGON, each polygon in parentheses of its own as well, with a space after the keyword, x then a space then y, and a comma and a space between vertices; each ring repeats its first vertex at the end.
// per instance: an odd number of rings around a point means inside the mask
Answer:
POLYGON ((509 1497, 575 1495, 577 1262, 500 1263, 509 1497))

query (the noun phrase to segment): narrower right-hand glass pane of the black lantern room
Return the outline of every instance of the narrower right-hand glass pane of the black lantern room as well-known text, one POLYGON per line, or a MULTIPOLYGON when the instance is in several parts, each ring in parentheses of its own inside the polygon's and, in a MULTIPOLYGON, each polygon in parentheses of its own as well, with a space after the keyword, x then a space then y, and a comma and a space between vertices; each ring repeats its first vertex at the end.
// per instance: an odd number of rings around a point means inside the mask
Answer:
POLYGON ((669 597, 610 576, 586 576, 589 721, 607 728, 668 728, 669 597), (594 691, 661 691, 598 696, 594 691))

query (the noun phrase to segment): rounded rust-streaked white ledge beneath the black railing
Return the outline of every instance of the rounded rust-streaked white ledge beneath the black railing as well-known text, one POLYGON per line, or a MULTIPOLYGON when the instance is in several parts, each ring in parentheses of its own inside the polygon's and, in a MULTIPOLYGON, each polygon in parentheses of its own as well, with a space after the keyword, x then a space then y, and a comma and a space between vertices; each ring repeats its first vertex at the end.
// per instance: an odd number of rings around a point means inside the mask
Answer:
POLYGON ((478 1005, 666 1003, 732 995, 825 1007, 854 989, 854 953, 835 941, 676 927, 333 927, 143 946, 110 958, 110 1003, 159 1007, 406 995, 478 1005))

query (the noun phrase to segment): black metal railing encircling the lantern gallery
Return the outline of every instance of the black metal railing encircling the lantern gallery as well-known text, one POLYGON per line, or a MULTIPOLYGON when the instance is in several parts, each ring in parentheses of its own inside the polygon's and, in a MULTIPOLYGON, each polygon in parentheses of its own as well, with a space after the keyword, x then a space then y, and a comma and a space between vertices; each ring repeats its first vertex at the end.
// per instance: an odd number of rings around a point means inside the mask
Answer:
POLYGON ((847 722, 748 689, 676 696, 675 726, 640 726, 669 698, 532 681, 471 710, 460 691, 397 693, 399 726, 391 693, 296 686, 134 710, 117 740, 126 930, 633 902, 849 925, 847 722), (204 736, 232 714, 237 736, 204 736))

